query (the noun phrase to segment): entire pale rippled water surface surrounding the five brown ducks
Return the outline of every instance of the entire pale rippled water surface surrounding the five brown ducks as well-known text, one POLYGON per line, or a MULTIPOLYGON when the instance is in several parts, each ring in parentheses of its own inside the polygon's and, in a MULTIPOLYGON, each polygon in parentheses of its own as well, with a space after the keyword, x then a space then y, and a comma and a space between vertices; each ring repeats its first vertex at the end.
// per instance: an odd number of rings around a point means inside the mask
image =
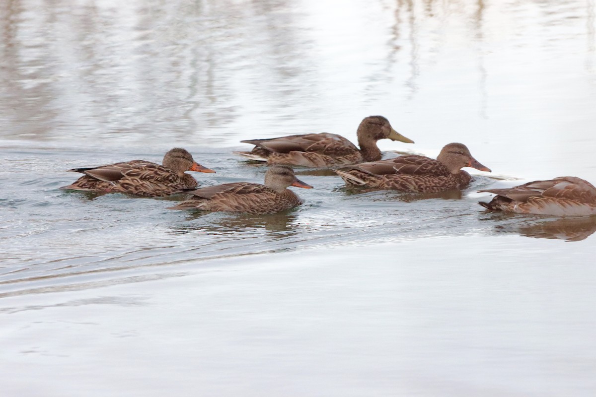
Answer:
POLYGON ((7 395, 596 392, 596 220, 476 204, 596 182, 593 1, 10 1, 0 32, 7 395), (386 156, 462 142, 493 173, 422 196, 300 169, 305 205, 263 216, 57 190, 175 146, 203 185, 260 182, 240 140, 371 114, 416 141, 386 156))

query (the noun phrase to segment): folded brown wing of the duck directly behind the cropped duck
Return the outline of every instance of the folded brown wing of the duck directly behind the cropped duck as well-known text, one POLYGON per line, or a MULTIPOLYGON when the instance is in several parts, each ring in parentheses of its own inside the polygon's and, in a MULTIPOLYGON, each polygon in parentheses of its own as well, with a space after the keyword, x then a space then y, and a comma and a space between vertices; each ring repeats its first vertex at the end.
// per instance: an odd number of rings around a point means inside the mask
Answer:
POLYGON ((371 175, 427 175, 449 176, 449 171, 439 161, 419 155, 406 155, 388 160, 362 162, 348 167, 371 175))

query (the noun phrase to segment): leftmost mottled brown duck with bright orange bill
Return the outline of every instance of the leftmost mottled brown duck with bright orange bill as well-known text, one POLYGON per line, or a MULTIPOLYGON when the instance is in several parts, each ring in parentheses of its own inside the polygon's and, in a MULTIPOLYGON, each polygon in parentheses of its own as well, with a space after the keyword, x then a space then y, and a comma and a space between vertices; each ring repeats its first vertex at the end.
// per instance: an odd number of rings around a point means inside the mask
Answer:
POLYGON ((215 173, 194 161, 182 148, 173 148, 163 157, 163 165, 145 160, 117 162, 91 168, 73 168, 85 174, 63 190, 82 190, 99 193, 128 193, 142 197, 169 196, 179 189, 197 187, 197 180, 185 171, 215 173))

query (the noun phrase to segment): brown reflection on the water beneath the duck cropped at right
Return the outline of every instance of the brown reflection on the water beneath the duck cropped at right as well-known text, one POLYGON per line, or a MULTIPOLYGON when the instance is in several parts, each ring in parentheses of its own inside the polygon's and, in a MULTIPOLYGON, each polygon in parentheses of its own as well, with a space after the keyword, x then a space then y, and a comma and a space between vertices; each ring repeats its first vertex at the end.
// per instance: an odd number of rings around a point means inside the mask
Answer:
POLYGON ((517 214, 488 214, 490 218, 481 218, 489 221, 506 221, 504 224, 495 224, 496 233, 516 233, 521 236, 536 239, 558 239, 565 241, 585 240, 596 232, 596 217, 577 218, 539 218, 527 220, 528 215, 517 214))

